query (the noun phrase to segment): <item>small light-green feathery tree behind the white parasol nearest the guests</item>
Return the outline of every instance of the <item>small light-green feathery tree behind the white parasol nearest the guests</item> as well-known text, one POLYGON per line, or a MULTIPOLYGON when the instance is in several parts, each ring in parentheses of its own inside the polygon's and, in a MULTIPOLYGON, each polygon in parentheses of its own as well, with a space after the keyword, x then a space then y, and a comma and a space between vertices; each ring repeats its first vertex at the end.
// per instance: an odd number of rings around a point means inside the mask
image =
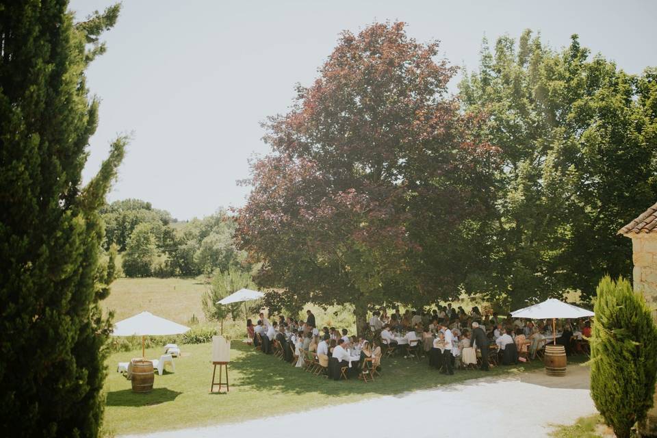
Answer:
POLYGON ((243 288, 255 289, 251 275, 238 268, 230 268, 227 271, 217 271, 212 278, 209 291, 203 294, 201 304, 205 318, 209 321, 220 321, 221 333, 224 333, 226 318, 230 316, 233 321, 240 318, 244 303, 234 302, 229 305, 220 305, 218 301, 243 288))

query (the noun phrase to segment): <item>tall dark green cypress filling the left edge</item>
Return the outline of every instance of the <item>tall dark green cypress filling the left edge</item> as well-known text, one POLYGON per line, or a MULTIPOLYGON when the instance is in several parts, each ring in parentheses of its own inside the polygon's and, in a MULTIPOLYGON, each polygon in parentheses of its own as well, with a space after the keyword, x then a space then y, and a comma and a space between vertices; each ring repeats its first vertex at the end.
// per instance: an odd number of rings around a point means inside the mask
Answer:
POLYGON ((110 322, 98 278, 105 202, 126 138, 87 185, 98 102, 84 70, 119 6, 75 24, 66 0, 0 1, 0 430, 94 437, 110 322))

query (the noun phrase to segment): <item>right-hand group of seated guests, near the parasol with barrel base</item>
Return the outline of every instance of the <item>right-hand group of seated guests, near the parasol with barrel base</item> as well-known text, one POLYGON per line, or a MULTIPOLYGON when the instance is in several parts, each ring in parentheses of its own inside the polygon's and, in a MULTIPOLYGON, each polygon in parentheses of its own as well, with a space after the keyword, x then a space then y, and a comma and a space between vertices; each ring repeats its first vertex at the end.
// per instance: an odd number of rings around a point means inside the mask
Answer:
POLYGON ((586 349, 586 339, 591 336, 589 320, 560 321, 555 334, 552 325, 545 321, 513 318, 511 314, 502 318, 496 312, 482 314, 477 306, 466 312, 451 304, 432 311, 407 310, 403 314, 396 309, 390 315, 381 309, 372 313, 368 325, 387 348, 406 352, 404 357, 411 357, 408 350, 420 344, 421 354, 429 357, 430 365, 446 374, 452 374, 454 366, 463 363, 455 363, 455 358, 463 359, 461 352, 467 348, 476 352, 480 369, 488 370, 491 346, 494 353, 502 356, 502 363, 515 363, 517 357, 535 357, 554 337, 556 344, 563 345, 567 355, 572 355, 578 348, 586 349))

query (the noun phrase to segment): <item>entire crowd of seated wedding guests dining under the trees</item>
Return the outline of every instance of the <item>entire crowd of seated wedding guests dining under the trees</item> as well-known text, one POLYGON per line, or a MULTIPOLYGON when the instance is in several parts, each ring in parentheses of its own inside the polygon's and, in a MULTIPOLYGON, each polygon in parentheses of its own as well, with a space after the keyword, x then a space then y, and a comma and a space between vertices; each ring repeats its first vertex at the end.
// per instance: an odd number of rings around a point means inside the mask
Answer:
POLYGON ((476 306, 469 312, 451 304, 403 314, 398 308, 391 314, 380 309, 363 327, 365 337, 350 335, 347 329, 320 329, 315 315, 310 310, 306 313, 305 321, 280 315, 273 322, 260 313, 256 324, 252 320, 246 323, 248 338, 266 354, 272 354, 276 345, 281 357, 298 367, 312 357, 335 379, 344 374, 355 376, 368 358, 372 359, 368 366, 380 370, 383 355, 428 357, 429 365, 444 374, 454 374, 455 368, 469 364, 489 370, 491 359, 504 364, 530 360, 554 337, 571 355, 586 348, 591 336, 589 320, 559 322, 552 333, 552 325, 545 321, 512 318, 510 314, 502 318, 491 311, 482 314, 476 306), (578 338, 581 342, 575 341, 578 338))

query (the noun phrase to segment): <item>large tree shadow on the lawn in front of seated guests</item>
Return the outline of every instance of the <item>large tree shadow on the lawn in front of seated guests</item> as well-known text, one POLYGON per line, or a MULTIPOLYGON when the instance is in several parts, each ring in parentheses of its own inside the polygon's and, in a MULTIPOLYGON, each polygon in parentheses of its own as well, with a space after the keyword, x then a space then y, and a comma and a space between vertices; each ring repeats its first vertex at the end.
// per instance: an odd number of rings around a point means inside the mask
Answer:
POLYGON ((417 389, 430 389, 450 383, 463 383, 476 378, 513 376, 518 373, 543 368, 540 361, 532 361, 516 366, 499 366, 489 372, 480 370, 456 370, 453 376, 440 374, 429 368, 428 359, 416 361, 395 357, 384 359, 381 376, 374 382, 365 383, 357 378, 349 381, 329 381, 322 376, 313 376, 292 364, 281 361, 273 355, 263 355, 244 344, 233 344, 244 355, 231 361, 231 368, 239 370, 240 377, 235 381, 242 387, 255 391, 279 391, 283 394, 324 394, 348 396, 355 394, 400 395, 417 389))

